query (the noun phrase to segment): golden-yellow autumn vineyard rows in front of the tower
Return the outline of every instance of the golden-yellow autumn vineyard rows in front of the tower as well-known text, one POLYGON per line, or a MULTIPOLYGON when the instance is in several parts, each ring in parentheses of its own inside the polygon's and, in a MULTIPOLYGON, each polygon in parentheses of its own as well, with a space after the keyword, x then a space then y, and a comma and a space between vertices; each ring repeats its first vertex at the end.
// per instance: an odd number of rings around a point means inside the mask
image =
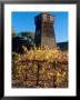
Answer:
POLYGON ((12 52, 12 88, 68 88, 68 51, 22 48, 12 52))

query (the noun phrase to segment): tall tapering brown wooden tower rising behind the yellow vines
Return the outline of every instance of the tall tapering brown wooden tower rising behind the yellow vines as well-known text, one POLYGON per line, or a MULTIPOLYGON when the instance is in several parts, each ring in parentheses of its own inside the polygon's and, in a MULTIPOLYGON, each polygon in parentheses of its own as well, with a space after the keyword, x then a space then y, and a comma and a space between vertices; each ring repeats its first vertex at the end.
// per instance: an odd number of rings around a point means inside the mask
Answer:
POLYGON ((48 46, 50 49, 57 47, 53 22, 54 22, 54 17, 49 14, 48 12, 42 12, 36 17, 34 42, 37 47, 48 46))

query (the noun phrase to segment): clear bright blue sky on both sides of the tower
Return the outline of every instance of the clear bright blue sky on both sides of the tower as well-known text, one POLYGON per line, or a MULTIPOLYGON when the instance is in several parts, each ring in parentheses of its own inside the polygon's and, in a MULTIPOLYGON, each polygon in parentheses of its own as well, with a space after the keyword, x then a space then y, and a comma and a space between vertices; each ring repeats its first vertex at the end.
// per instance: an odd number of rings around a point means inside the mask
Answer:
MULTIPOLYGON (((16 33, 24 32, 24 31, 36 31, 34 17, 40 12, 12 12, 11 13, 11 27, 16 31, 16 33)), ((68 41, 68 12, 49 12, 54 16, 54 34, 57 42, 68 41)))

